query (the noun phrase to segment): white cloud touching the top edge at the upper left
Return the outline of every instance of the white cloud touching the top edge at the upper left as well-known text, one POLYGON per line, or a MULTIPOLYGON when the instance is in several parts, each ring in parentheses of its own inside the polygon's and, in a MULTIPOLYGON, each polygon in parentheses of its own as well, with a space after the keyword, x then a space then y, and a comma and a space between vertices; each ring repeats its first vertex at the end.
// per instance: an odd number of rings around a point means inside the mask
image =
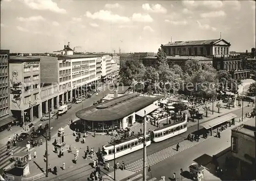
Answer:
POLYGON ((55 13, 66 14, 65 9, 59 8, 57 3, 51 0, 47 1, 35 1, 35 0, 24 0, 25 5, 34 10, 48 10, 55 13))

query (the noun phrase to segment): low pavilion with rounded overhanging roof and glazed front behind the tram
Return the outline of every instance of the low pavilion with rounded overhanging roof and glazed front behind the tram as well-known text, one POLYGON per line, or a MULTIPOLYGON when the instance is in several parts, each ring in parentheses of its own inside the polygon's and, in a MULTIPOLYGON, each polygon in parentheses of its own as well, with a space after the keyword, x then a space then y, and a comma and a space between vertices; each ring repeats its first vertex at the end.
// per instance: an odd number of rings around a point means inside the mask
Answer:
POLYGON ((126 94, 82 109, 76 112, 76 117, 82 120, 84 130, 89 132, 126 128, 135 122, 136 112, 143 108, 146 112, 152 112, 161 98, 162 96, 140 96, 137 93, 126 94))

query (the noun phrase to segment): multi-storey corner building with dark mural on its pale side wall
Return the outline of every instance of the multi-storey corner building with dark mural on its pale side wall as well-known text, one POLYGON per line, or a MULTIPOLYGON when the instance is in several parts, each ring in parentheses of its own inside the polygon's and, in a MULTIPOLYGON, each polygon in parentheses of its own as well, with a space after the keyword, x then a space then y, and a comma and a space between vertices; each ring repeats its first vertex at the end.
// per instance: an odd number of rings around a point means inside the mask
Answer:
POLYGON ((10 56, 10 110, 21 123, 41 117, 40 59, 10 56))

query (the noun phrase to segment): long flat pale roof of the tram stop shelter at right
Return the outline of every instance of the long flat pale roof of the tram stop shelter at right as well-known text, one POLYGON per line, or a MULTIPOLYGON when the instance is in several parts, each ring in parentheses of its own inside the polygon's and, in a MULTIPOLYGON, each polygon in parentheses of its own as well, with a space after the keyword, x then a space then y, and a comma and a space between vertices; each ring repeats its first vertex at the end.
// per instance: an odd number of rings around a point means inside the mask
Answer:
POLYGON ((219 118, 212 119, 208 122, 202 123, 202 124, 200 124, 200 126, 203 126, 206 130, 208 130, 209 128, 220 125, 226 121, 231 121, 231 119, 236 118, 236 117, 237 117, 236 114, 229 113, 225 116, 221 116, 219 118))

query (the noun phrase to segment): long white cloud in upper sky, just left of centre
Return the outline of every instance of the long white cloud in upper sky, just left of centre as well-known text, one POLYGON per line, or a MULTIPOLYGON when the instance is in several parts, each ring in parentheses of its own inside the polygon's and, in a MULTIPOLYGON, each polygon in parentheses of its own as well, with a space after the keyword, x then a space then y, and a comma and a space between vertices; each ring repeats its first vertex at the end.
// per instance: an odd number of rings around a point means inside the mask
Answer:
POLYGON ((130 21, 129 17, 112 14, 111 11, 105 11, 105 10, 100 10, 93 14, 90 11, 87 11, 85 16, 91 19, 99 19, 99 20, 111 21, 111 22, 129 22, 130 21))

